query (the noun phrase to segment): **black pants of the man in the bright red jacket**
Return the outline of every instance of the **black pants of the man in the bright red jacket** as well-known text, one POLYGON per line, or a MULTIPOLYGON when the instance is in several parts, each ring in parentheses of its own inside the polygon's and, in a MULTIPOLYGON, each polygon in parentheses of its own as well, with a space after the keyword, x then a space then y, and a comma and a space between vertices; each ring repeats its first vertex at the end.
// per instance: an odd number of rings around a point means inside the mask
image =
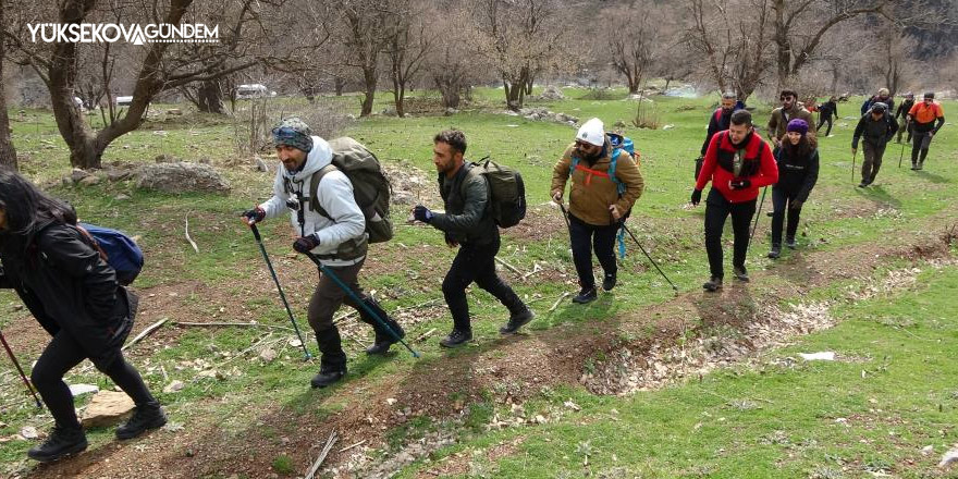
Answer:
POLYGON ((725 275, 725 270, 722 268, 722 230, 725 229, 725 219, 728 214, 732 214, 732 231, 735 233, 732 265, 745 267, 749 225, 756 213, 757 202, 754 199, 730 202, 717 189, 709 191, 709 197, 705 198, 705 253, 709 254, 709 270, 713 278, 725 275))

